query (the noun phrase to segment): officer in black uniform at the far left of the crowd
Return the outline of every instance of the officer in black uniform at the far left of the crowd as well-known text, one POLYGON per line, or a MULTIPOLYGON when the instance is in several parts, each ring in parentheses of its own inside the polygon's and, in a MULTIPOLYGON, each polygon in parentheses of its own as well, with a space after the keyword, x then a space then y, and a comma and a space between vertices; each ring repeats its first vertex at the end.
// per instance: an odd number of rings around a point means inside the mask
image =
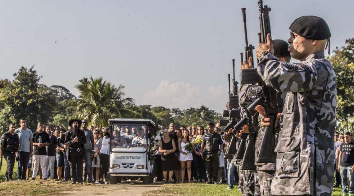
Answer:
POLYGON ((4 155, 7 164, 6 181, 12 180, 16 152, 20 153, 18 134, 15 133, 15 129, 15 123, 11 123, 8 127, 8 132, 4 133, 0 139, 0 158, 4 155))

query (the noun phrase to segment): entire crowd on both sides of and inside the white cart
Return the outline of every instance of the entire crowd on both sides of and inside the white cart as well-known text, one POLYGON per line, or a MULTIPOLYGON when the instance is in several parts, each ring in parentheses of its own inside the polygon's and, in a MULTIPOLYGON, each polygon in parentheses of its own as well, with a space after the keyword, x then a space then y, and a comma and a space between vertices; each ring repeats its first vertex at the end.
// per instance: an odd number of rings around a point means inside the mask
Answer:
MULTIPOLYGON (((87 126, 87 120, 70 120, 68 130, 61 126, 46 126, 38 122, 36 131, 27 128, 25 119, 19 128, 10 123, 1 136, 0 156, 7 163, 6 181, 13 180, 13 166, 17 161, 18 180, 62 179, 73 184, 108 183, 110 130, 87 126), (80 127, 80 128, 79 128, 80 127), (75 146, 76 145, 76 146, 75 146)), ((120 127, 114 130, 112 146, 131 148, 143 144, 146 127, 120 127)), ((228 160, 224 160, 226 141, 219 124, 175 128, 161 132, 155 154, 157 181, 166 183, 206 182, 226 183, 228 160), (159 172, 160 171, 160 172, 159 172), (169 178, 167 178, 167 175, 169 178)), ((154 148, 154 146, 152 146, 154 148)), ((229 160, 230 161, 230 160, 229 160)), ((234 173, 238 178, 237 172, 234 173)), ((229 175, 230 176, 230 175, 229 175)), ((235 180, 233 180, 235 181, 235 180)), ((237 181, 237 180, 236 180, 237 181)))

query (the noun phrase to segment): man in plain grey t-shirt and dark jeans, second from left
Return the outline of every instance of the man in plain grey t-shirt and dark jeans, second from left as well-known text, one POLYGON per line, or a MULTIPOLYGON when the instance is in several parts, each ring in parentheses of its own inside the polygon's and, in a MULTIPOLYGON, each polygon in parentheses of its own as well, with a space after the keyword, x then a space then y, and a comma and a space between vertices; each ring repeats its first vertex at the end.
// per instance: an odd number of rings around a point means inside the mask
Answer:
POLYGON ((33 134, 31 129, 28 129, 26 127, 27 123, 25 119, 20 119, 19 122, 21 127, 16 129, 15 131, 15 133, 18 134, 20 145, 19 161, 17 163, 17 179, 25 180, 27 164, 29 161, 29 157, 32 157, 33 152, 33 134))

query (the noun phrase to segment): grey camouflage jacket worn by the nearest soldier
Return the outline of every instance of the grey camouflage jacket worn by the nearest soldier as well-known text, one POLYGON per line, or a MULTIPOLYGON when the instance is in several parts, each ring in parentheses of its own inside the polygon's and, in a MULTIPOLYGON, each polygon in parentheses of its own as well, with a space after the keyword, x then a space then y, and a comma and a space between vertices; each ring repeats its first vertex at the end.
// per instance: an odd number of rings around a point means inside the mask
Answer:
POLYGON ((301 63, 262 56, 266 85, 285 92, 272 195, 331 195, 334 172, 336 74, 324 51, 301 63))

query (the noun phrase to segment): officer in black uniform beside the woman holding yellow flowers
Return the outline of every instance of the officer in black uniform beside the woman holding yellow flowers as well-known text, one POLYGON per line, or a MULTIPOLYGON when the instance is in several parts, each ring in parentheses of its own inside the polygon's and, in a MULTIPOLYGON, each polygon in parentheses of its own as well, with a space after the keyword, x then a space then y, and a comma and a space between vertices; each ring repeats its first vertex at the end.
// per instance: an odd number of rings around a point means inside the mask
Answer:
POLYGON ((210 122, 207 126, 208 132, 203 136, 203 142, 201 144, 201 152, 204 155, 206 177, 208 178, 207 184, 211 184, 214 181, 218 183, 218 169, 219 169, 219 156, 222 150, 222 139, 220 134, 214 131, 215 125, 210 122))

